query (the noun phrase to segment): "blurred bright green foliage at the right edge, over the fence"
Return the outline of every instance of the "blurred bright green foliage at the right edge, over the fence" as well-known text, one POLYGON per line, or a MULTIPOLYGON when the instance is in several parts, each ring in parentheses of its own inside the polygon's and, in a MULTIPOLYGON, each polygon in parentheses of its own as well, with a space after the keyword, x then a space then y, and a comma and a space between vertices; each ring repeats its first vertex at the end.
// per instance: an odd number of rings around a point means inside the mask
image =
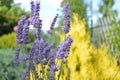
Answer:
POLYGON ((116 53, 115 55, 120 58, 120 24, 117 22, 116 17, 111 20, 111 25, 107 25, 108 27, 111 27, 108 29, 108 31, 105 33, 108 38, 109 42, 109 49, 112 53, 116 53))

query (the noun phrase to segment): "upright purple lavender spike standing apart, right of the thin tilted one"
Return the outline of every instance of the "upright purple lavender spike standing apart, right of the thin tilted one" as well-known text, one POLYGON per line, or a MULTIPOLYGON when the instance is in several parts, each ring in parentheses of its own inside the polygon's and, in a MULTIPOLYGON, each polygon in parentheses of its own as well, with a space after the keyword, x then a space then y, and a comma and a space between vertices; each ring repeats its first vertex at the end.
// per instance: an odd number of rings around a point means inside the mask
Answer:
POLYGON ((70 8, 68 3, 64 3, 63 11, 64 25, 62 26, 62 30, 64 33, 68 33, 70 31, 70 8))

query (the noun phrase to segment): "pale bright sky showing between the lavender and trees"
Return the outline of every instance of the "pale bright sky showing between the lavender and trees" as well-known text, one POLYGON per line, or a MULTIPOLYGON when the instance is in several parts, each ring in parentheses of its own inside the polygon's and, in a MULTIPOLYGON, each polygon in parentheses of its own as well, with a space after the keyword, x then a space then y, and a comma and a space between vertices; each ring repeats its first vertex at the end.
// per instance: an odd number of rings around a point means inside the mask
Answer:
MULTIPOLYGON (((21 7, 26 11, 30 10, 30 1, 31 0, 14 0, 14 3, 21 3, 21 7)), ((62 0, 40 0, 41 1, 41 10, 40 17, 43 21, 43 30, 48 30, 50 24, 57 13, 60 13, 58 9, 60 9, 60 3, 62 0)), ((87 4, 89 4, 90 0, 84 0, 87 4)), ((93 9, 94 11, 98 10, 98 6, 100 5, 100 0, 93 0, 93 9)), ((119 12, 120 18, 120 0, 115 0, 115 5, 113 9, 117 9, 119 12)), ((93 16, 93 23, 96 23, 98 15, 93 16)))

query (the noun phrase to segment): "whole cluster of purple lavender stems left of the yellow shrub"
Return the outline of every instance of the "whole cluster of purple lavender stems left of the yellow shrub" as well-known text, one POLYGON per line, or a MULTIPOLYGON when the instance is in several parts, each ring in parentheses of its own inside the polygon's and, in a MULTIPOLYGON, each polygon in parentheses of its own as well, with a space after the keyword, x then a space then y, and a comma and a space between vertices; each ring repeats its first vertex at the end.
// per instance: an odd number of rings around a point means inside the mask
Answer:
MULTIPOLYGON (((19 27, 16 31, 18 47, 15 52, 14 64, 19 66, 21 62, 26 62, 26 70, 22 74, 19 74, 22 80, 30 80, 31 76, 34 80, 54 80, 56 72, 59 72, 59 80, 62 65, 66 63, 73 38, 70 35, 67 36, 56 49, 53 49, 54 43, 48 44, 45 42, 44 38, 40 36, 42 20, 40 19, 39 12, 40 0, 36 0, 36 2, 31 1, 30 18, 27 19, 26 16, 23 15, 18 22, 19 27), (36 29, 35 34, 33 35, 35 36, 35 39, 30 51, 25 51, 23 54, 21 52, 22 45, 30 43, 28 37, 28 33, 31 33, 30 26, 33 26, 33 28, 36 29), (61 64, 59 64, 58 61, 60 61, 61 64), (38 69, 38 66, 40 66, 40 70, 38 69)), ((48 33, 52 34, 57 18, 58 14, 53 19, 48 33)), ((64 4, 63 26, 62 30, 64 33, 68 33, 70 30, 70 9, 67 3, 64 4)))

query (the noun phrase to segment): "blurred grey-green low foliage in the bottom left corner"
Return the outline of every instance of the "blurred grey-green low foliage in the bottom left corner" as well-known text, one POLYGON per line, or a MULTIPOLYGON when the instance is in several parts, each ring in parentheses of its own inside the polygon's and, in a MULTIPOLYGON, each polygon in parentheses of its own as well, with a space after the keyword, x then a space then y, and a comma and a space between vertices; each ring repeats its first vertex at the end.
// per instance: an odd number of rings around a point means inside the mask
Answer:
POLYGON ((24 66, 18 67, 13 64, 15 50, 11 48, 0 49, 0 80, 19 80, 18 70, 24 71, 24 66))

